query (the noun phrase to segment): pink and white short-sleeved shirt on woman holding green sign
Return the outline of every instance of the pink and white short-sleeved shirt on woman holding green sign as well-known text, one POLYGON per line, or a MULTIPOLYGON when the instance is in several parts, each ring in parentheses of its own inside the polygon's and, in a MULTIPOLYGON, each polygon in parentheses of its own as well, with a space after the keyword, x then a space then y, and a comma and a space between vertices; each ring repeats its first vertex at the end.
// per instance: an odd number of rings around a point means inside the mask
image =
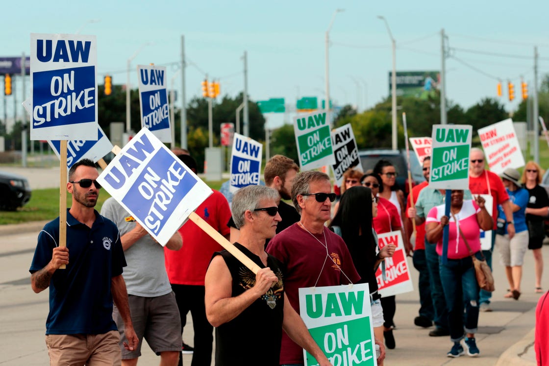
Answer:
MULTIPOLYGON (((440 219, 444 216, 445 205, 435 206, 429 211, 425 225, 429 222, 440 223, 440 219)), ((470 256, 469 250, 465 241, 460 235, 458 226, 461 228, 463 235, 467 239, 467 243, 471 247, 473 253, 480 250, 480 226, 477 221, 477 213, 480 212, 480 207, 477 202, 473 200, 464 200, 461 211, 456 213, 456 222, 450 215, 450 235, 448 239, 448 258, 449 259, 461 259, 470 256)), ((438 255, 442 255, 442 239, 436 243, 436 252, 438 255)))

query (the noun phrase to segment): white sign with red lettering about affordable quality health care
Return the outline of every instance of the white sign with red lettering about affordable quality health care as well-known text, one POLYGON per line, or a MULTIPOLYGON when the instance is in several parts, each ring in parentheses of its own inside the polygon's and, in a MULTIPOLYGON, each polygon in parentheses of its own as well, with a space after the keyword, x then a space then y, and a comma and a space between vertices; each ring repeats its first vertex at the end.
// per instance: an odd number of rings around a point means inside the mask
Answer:
POLYGON ((477 132, 491 172, 501 174, 506 168, 525 165, 511 119, 479 128, 477 132))

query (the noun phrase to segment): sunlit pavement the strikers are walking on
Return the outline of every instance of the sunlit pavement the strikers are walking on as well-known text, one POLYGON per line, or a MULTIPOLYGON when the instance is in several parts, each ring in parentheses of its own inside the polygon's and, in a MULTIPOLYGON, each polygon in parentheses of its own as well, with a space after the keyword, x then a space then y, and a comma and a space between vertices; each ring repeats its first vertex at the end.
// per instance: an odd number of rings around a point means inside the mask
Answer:
MULTIPOLYGON (((28 268, 32 260, 36 235, 43 223, 27 223, 0 227, 0 365, 45 365, 48 363, 44 344, 44 324, 48 312, 48 293, 34 294, 30 288, 28 268)), ((545 246, 544 257, 549 256, 545 246)), ((497 258, 497 254, 496 254, 497 258)), ((546 260, 547 261, 547 260, 546 260)), ((417 272, 412 268, 414 286, 417 285, 417 272)), ((534 308, 540 295, 534 294, 533 258, 526 254, 523 279, 523 295, 519 301, 503 299, 507 288, 505 273, 496 265, 496 291, 492 308, 494 312, 481 313, 477 344, 481 357, 474 359, 445 357, 450 349, 449 337, 429 337, 428 329, 413 325, 417 316, 419 301, 417 291, 397 295, 397 311, 394 331, 396 349, 389 350, 388 365, 495 365, 506 351, 511 353, 503 358, 502 364, 535 365, 535 354, 529 345, 533 342, 534 308), (524 339, 524 340, 523 340, 524 339), (523 344, 513 345, 523 340, 523 344), (515 351, 518 349, 518 351, 515 351), (518 353, 524 353, 521 357, 518 353), (513 357, 516 363, 513 363, 513 357)), ((547 278, 547 275, 545 276, 547 278)), ((545 286, 549 285, 546 281, 545 286)), ((192 319, 187 319, 184 340, 192 341, 192 319)), ((190 364, 191 356, 184 356, 184 363, 190 364)), ((501 361, 500 361, 501 362, 501 361)), ((140 364, 158 363, 150 348, 143 347, 140 364)))

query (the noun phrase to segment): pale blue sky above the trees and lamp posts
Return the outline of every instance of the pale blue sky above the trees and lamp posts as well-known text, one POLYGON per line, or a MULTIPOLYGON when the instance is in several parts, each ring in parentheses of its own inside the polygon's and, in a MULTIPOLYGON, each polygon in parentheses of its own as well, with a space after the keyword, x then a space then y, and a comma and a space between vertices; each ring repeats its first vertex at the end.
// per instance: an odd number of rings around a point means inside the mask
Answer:
MULTIPOLYGON (((508 111, 520 103, 520 77, 534 81, 534 47, 541 78, 549 73, 549 1, 154 1, 97 0, 68 2, 10 1, 4 14, 0 56, 30 54, 30 33, 76 33, 97 36, 98 83, 111 75, 125 84, 131 61, 136 66, 165 65, 181 95, 181 37, 187 60, 187 102, 201 97, 206 74, 219 80, 221 94, 234 97, 244 88, 243 54, 248 55, 251 100, 285 98, 295 108, 301 97, 325 98, 325 34, 329 32, 330 98, 336 105, 371 108, 389 94, 391 40, 396 40, 396 70, 441 69, 441 30, 446 33, 446 95, 467 109, 483 98, 497 98, 508 111), (9 14, 9 15, 8 15, 9 14), (508 102, 506 82, 515 84, 508 102)), ((27 95, 29 88, 26 89, 27 95)), ((21 88, 16 86, 16 100, 21 88)), ((18 102, 19 105, 20 102, 18 102)), ((181 99, 177 102, 181 105, 181 99)), ((0 110, 3 113, 3 104, 0 110)), ((8 100, 13 115, 14 100, 8 100)), ((18 107, 20 109, 20 107, 18 107)), ((292 122, 294 114, 269 114, 268 126, 292 122)), ((215 120, 215 116, 214 116, 215 120)), ((225 122, 225 121, 221 121, 225 122)), ((408 126, 421 121, 409 121, 408 126)), ((463 123, 463 121, 449 121, 463 123)))

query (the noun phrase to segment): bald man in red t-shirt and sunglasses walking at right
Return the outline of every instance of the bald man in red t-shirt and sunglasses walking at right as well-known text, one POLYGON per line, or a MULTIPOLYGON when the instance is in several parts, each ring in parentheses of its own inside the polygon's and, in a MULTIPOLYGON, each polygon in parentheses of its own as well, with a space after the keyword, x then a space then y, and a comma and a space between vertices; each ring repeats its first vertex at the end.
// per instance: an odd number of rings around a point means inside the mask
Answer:
MULTIPOLYGON (((507 232, 509 238, 514 236, 513 210, 509 195, 503 187, 500 177, 497 174, 485 170, 484 151, 479 148, 472 148, 469 154, 469 190, 474 196, 476 194, 490 194, 492 196, 492 218, 494 219, 494 230, 492 230, 492 247, 490 250, 483 250, 486 262, 492 268, 492 251, 496 239, 497 223, 497 205, 503 207, 505 218, 507 220, 507 232)), ((480 311, 492 311, 490 308, 490 299, 492 293, 486 290, 480 290, 479 309, 480 311)))

